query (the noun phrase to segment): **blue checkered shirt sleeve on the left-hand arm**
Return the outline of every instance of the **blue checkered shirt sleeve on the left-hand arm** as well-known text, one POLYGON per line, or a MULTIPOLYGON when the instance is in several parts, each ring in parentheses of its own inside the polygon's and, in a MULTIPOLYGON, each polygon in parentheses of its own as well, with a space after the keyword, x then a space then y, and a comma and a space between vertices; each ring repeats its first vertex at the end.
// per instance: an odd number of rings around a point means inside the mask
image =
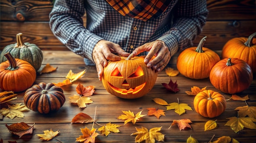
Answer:
POLYGON ((49 13, 49 26, 57 39, 72 52, 92 60, 92 50, 103 38, 83 26, 81 17, 84 14, 83 0, 55 0, 49 13))

